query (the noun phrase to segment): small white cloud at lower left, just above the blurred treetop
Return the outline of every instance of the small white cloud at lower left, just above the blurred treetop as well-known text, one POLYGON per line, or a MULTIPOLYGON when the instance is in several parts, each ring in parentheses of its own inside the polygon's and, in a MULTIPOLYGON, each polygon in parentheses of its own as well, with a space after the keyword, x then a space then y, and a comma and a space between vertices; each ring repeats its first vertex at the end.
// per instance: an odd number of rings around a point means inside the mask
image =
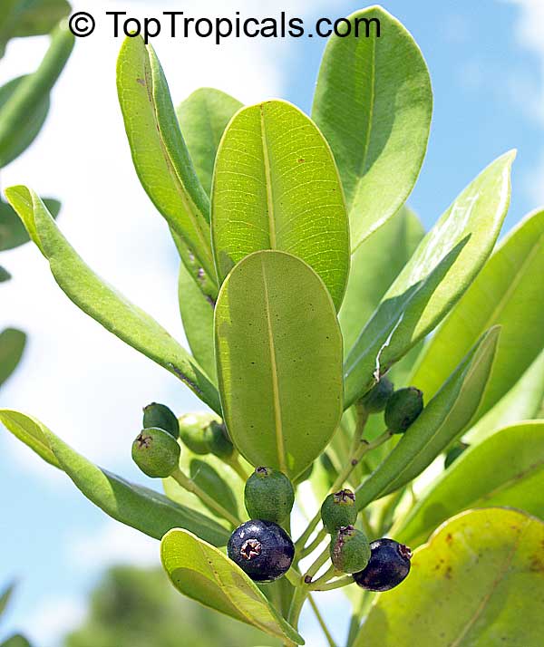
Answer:
POLYGON ((66 546, 70 565, 91 573, 112 565, 160 565, 156 539, 111 519, 92 534, 71 534, 66 546))

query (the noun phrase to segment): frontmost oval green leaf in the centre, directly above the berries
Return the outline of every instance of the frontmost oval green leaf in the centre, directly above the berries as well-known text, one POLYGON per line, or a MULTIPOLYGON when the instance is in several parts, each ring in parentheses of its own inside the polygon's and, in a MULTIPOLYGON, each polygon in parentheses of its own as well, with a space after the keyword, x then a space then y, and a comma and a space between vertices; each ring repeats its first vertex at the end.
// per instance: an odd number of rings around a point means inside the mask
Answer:
POLYGON ((230 438, 252 465, 296 478, 342 414, 342 336, 325 285, 296 256, 247 256, 219 293, 215 339, 230 438))

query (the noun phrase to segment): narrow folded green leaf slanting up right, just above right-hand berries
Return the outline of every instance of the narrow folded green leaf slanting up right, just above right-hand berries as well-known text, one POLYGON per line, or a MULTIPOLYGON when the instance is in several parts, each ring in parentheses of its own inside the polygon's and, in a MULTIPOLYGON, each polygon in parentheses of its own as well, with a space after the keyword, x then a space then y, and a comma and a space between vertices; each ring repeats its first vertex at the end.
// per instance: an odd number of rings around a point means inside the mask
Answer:
POLYGON ((389 456, 357 488, 359 509, 421 474, 466 428, 489 379, 499 333, 495 327, 482 335, 389 456))

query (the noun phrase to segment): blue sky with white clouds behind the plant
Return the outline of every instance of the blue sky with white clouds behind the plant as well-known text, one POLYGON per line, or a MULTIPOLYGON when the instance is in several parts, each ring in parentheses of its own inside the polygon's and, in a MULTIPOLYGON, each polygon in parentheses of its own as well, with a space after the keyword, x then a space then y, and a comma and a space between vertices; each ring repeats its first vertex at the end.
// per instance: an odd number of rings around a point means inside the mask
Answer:
MULTIPOLYGON (((251 10, 256 4, 187 3, 186 11, 192 6, 193 14, 202 14, 202 5, 212 15, 244 7, 247 15, 281 10, 270 2, 251 10)), ((410 203, 430 227, 492 159, 517 148, 510 228, 544 203, 539 0, 385 0, 383 5, 412 32, 432 74, 431 140, 410 203)), ((77 6, 92 6, 95 14, 113 6, 153 14, 150 5, 128 0, 77 6)), ((160 9, 168 6, 162 3, 160 9)), ((291 14, 337 17, 361 4, 298 0, 289 6, 291 14)), ((61 227, 83 257, 181 337, 175 252, 135 179, 116 104, 120 42, 98 32, 78 43, 43 134, 3 172, 2 186, 24 181, 61 198, 61 227)), ((12 43, 0 62, 0 80, 31 70, 45 46, 44 39, 12 43)), ((206 43, 156 43, 175 101, 209 84, 247 102, 279 95, 305 111, 324 46, 318 39, 245 41, 220 50, 206 43)), ((129 460, 141 406, 165 401, 181 413, 198 403, 178 381, 77 311, 32 246, 6 254, 4 264, 15 280, 2 288, 1 323, 26 330, 30 343, 20 371, 0 393, 1 406, 36 415, 85 455, 141 480, 129 460)), ((35 636, 39 647, 51 647, 65 627, 83 617, 85 594, 105 565, 156 563, 156 545, 114 524, 63 475, 15 439, 2 438, 0 582, 16 578, 20 584, 0 638, 19 628, 35 636)), ((335 629, 342 634, 340 623, 335 629)))

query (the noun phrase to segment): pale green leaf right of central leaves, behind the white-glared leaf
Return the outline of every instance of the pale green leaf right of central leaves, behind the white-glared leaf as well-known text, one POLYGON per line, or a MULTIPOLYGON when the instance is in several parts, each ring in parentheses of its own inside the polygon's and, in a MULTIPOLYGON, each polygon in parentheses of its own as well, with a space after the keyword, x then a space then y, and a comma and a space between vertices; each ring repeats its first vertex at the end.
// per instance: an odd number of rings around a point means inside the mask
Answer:
POLYGON ((355 344, 364 324, 410 260, 424 234, 419 218, 412 209, 403 207, 352 256, 344 301, 338 314, 345 353, 355 344))

